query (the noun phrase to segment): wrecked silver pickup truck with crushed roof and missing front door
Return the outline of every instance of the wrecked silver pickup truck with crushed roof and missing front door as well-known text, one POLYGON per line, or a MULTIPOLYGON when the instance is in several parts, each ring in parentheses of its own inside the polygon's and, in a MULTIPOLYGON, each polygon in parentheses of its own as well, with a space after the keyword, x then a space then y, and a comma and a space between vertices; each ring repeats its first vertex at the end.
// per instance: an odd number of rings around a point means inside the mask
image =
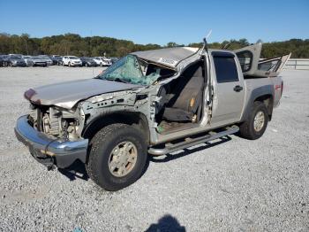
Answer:
POLYGON ((205 43, 133 52, 93 79, 28 89, 30 112, 15 133, 49 170, 81 161, 103 189, 122 189, 148 154, 263 135, 290 55, 260 60, 260 51, 260 43, 235 51, 205 43))

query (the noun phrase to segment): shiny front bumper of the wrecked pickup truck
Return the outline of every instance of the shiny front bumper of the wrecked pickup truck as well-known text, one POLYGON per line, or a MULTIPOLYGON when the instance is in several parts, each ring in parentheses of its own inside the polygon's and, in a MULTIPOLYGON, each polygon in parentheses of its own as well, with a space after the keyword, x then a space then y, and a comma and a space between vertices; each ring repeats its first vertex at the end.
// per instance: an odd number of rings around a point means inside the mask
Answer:
POLYGON ((65 168, 79 159, 85 163, 87 158, 87 139, 78 141, 61 141, 49 137, 34 129, 26 115, 17 120, 15 134, 21 143, 24 143, 34 159, 49 169, 53 166, 65 168))

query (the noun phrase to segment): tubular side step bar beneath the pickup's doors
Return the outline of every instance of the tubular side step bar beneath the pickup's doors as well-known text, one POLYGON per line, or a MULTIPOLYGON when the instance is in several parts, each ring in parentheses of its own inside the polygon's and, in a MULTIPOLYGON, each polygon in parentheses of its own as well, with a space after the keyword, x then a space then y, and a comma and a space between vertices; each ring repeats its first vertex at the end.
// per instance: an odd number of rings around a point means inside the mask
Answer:
POLYGON ((166 143, 164 148, 151 147, 149 148, 148 153, 155 156, 165 155, 168 153, 172 153, 174 151, 179 151, 188 147, 198 145, 200 143, 206 143, 208 141, 215 140, 226 135, 235 134, 237 133, 238 130, 239 128, 233 125, 231 127, 225 128, 225 130, 218 133, 210 131, 207 133, 207 135, 201 135, 200 137, 194 137, 194 138, 187 137, 185 138, 185 141, 179 143, 166 143))

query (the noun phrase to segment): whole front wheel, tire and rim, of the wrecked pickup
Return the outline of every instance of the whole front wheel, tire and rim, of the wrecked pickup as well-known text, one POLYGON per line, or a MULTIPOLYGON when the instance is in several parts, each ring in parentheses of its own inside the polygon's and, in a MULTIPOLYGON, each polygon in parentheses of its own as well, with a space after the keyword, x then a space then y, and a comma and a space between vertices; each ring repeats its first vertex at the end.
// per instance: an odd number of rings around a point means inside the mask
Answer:
POLYGON ((90 143, 87 173, 103 189, 116 191, 136 182, 146 163, 144 135, 137 128, 111 124, 90 143))

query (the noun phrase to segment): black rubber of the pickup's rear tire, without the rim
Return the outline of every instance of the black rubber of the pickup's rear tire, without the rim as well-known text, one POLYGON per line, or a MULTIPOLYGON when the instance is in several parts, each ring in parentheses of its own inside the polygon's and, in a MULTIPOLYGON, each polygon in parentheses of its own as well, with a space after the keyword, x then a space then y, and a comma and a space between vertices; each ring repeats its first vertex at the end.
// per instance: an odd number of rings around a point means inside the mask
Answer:
POLYGON ((250 140, 258 139, 264 134, 266 128, 268 127, 268 109, 266 105, 261 102, 254 102, 252 106, 251 114, 248 119, 243 122, 239 127, 239 134, 250 140), (254 118, 258 112, 262 112, 264 116, 264 124, 260 130, 254 128, 254 118))

